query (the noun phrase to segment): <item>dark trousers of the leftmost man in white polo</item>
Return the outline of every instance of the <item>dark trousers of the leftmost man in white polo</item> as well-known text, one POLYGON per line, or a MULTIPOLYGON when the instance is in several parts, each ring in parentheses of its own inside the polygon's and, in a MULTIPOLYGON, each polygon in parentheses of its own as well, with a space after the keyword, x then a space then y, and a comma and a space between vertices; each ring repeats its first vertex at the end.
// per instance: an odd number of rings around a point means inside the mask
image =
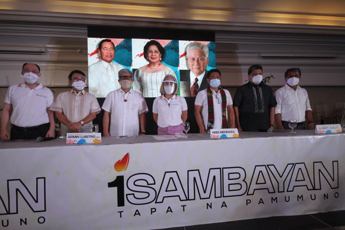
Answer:
POLYGON ((37 139, 37 137, 46 137, 50 124, 45 123, 33 127, 19 127, 12 124, 11 140, 37 139))

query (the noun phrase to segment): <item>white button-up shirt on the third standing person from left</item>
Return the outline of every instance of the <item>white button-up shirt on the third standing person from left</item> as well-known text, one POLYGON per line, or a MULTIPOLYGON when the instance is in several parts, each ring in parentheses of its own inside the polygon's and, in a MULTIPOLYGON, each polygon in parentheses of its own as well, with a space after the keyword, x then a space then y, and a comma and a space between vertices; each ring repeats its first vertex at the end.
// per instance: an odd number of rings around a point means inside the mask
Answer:
POLYGON ((145 99, 140 93, 130 89, 124 94, 121 88, 107 95, 102 109, 111 113, 111 136, 138 135, 139 115, 148 112, 145 99))

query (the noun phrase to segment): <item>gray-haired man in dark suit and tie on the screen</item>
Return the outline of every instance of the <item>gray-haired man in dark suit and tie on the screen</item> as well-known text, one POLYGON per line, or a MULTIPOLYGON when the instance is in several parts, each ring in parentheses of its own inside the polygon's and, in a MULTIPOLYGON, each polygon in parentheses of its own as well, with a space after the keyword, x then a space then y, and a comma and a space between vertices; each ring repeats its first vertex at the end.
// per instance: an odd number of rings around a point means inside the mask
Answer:
POLYGON ((188 82, 190 96, 196 97, 199 91, 207 88, 207 70, 209 50, 199 42, 189 43, 186 48, 187 71, 181 70, 180 81, 188 82))

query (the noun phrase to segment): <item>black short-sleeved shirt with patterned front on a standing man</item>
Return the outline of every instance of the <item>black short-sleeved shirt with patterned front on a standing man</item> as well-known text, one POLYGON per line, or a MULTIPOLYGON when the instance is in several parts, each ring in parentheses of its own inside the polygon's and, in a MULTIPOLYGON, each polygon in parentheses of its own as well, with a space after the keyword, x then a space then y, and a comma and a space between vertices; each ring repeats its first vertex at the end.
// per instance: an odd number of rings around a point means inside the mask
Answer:
POLYGON ((270 86, 251 82, 236 90, 233 106, 239 109, 239 123, 243 131, 267 130, 270 128, 268 109, 277 105, 270 86))

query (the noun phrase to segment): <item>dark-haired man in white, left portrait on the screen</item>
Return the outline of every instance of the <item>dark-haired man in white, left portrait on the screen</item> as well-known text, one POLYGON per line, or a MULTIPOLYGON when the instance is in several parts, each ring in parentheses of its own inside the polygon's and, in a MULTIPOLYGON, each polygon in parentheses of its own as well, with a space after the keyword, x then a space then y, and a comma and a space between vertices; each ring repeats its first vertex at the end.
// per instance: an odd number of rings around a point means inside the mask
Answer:
POLYGON ((113 61, 115 45, 112 40, 103 39, 97 51, 101 59, 89 66, 89 93, 105 98, 108 93, 120 88, 117 73, 123 66, 113 61))

